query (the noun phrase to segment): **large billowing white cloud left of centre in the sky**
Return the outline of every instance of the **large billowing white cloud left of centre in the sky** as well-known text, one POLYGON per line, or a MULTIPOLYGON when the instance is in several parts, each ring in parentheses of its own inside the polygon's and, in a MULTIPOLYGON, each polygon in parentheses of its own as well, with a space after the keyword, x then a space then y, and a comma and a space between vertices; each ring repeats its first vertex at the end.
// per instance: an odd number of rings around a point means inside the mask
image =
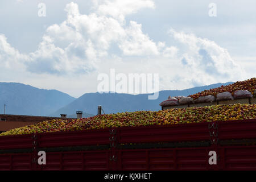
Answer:
MULTIPOLYGON (((151 1, 141 1, 138 6, 130 2, 117 3, 123 15, 148 7, 151 1), (143 5, 143 3, 146 3, 143 5)), ((114 4, 106 1, 101 7, 114 4)), ((124 55, 157 55, 158 47, 143 34, 142 25, 130 22, 129 26, 113 16, 101 13, 80 14, 76 3, 65 7, 67 20, 49 26, 37 51, 30 54, 28 71, 35 73, 88 73, 97 69, 97 63, 108 57, 112 44, 117 44, 124 55)), ((98 11, 99 12, 99 11, 98 11)), ((106 12, 105 12, 106 13, 106 12)))

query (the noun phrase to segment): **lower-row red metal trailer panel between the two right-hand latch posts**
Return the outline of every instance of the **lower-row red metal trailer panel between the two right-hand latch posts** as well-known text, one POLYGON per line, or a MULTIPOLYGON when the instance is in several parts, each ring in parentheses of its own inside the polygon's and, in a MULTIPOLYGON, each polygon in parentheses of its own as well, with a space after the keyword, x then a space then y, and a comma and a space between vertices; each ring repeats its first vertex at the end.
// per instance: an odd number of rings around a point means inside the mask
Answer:
POLYGON ((158 148, 119 151, 119 170, 206 170, 207 148, 158 148))

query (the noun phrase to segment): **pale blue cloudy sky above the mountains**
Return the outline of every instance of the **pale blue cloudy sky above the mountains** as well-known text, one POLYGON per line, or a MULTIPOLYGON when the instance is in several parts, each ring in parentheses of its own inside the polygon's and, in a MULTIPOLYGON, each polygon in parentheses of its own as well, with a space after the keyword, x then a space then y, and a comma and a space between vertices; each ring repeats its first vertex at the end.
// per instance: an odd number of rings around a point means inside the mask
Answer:
POLYGON ((0 82, 97 92, 98 75, 159 90, 255 77, 256 1, 0 1, 0 82))

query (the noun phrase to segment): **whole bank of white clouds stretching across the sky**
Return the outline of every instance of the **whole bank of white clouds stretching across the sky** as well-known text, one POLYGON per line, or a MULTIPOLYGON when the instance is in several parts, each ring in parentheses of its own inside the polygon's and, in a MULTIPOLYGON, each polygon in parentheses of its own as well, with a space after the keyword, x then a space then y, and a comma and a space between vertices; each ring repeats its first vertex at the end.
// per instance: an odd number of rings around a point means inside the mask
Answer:
POLYGON ((244 75, 228 50, 212 40, 171 30, 173 42, 155 42, 142 24, 126 23, 127 14, 154 8, 152 1, 94 1, 94 5, 94 12, 81 14, 76 3, 68 3, 67 19, 49 26, 38 49, 27 55, 0 35, 0 63, 19 69, 19 76, 26 72, 24 82, 35 86, 36 80, 47 84, 44 79, 55 83, 49 83, 50 88, 72 85, 67 90, 76 92, 76 97, 96 92, 97 73, 109 73, 110 68, 125 74, 159 73, 160 89, 236 81, 244 75), (118 51, 112 52, 113 47, 118 51))

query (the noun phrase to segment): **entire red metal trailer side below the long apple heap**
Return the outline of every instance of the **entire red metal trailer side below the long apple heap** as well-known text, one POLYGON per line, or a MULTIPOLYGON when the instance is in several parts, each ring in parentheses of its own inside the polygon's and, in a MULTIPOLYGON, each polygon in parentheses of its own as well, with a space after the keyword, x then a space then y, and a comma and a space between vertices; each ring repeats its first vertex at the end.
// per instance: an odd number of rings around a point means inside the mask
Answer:
POLYGON ((15 135, 0 170, 256 170, 254 142, 256 119, 15 135))

